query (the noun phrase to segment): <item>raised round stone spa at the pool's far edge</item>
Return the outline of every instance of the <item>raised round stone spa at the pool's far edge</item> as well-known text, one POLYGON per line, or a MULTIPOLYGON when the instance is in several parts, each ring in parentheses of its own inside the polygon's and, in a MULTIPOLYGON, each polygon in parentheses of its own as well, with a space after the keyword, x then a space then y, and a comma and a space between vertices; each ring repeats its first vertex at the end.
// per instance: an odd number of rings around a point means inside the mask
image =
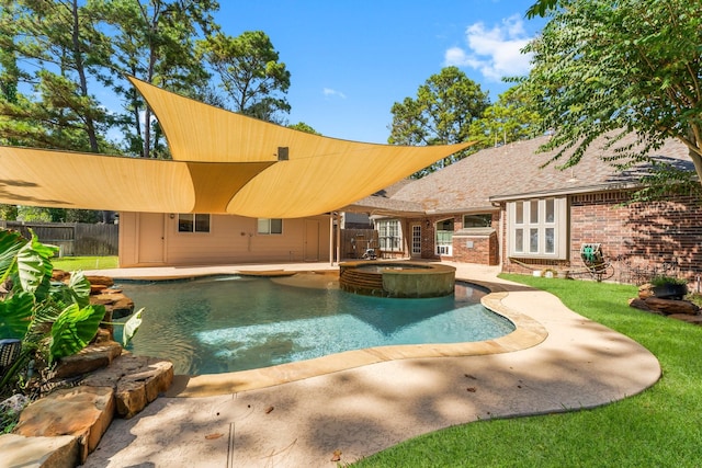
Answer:
POLYGON ((456 269, 449 265, 359 261, 339 264, 341 289, 378 297, 440 297, 453 294, 456 269))

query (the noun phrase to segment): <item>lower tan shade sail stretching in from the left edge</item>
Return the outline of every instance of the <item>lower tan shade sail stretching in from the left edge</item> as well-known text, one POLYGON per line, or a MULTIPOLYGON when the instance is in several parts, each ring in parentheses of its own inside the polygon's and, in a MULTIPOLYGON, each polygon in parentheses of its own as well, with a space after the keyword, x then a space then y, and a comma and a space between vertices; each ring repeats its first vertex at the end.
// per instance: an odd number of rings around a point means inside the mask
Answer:
POLYGON ((188 164, 0 146, 0 203, 59 208, 188 213, 188 164))

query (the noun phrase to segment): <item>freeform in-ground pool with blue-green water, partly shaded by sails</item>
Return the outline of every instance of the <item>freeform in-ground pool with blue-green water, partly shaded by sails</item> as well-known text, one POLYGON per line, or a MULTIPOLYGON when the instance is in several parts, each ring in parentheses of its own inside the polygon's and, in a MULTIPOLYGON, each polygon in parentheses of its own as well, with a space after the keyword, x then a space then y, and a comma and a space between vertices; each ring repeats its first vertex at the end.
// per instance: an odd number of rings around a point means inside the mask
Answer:
POLYGON ((514 330, 480 305, 485 292, 464 283, 454 295, 423 299, 346 293, 337 275, 324 273, 117 286, 145 308, 127 349, 171 361, 177 374, 246 370, 373 346, 483 341, 514 330))

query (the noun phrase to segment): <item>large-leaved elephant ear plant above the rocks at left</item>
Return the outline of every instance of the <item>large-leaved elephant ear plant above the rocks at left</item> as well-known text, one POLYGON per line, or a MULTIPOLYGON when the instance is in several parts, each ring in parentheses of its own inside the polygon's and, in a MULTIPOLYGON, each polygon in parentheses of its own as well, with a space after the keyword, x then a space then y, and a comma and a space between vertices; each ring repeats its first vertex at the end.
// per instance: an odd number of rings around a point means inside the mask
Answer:
MULTIPOLYGON (((105 315, 104 306, 90 305, 90 282, 82 272, 71 274, 69 284, 52 282, 52 256, 58 249, 19 232, 0 229, 0 339, 22 341, 20 357, 0 376, 0 392, 10 383, 25 392, 31 390, 27 375, 34 362, 50 369, 61 357, 78 353, 95 336, 105 315)), ((136 332, 140 311, 128 326, 136 332)))

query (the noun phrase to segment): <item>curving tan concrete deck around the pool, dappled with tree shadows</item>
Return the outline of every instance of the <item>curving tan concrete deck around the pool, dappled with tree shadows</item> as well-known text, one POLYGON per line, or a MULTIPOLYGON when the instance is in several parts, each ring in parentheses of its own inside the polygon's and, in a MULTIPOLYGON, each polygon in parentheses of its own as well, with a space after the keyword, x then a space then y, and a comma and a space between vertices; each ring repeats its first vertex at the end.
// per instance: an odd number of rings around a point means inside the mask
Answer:
MULTIPOLYGON (((84 466, 333 467, 455 424, 607 404, 660 377, 646 349, 554 296, 499 279, 497 267, 448 264, 457 278, 494 290, 488 306, 518 330, 495 342, 393 346, 260 373, 182 376, 169 396, 134 419, 114 420, 84 466)), ((88 273, 171 278, 337 269, 307 263, 88 273)))

